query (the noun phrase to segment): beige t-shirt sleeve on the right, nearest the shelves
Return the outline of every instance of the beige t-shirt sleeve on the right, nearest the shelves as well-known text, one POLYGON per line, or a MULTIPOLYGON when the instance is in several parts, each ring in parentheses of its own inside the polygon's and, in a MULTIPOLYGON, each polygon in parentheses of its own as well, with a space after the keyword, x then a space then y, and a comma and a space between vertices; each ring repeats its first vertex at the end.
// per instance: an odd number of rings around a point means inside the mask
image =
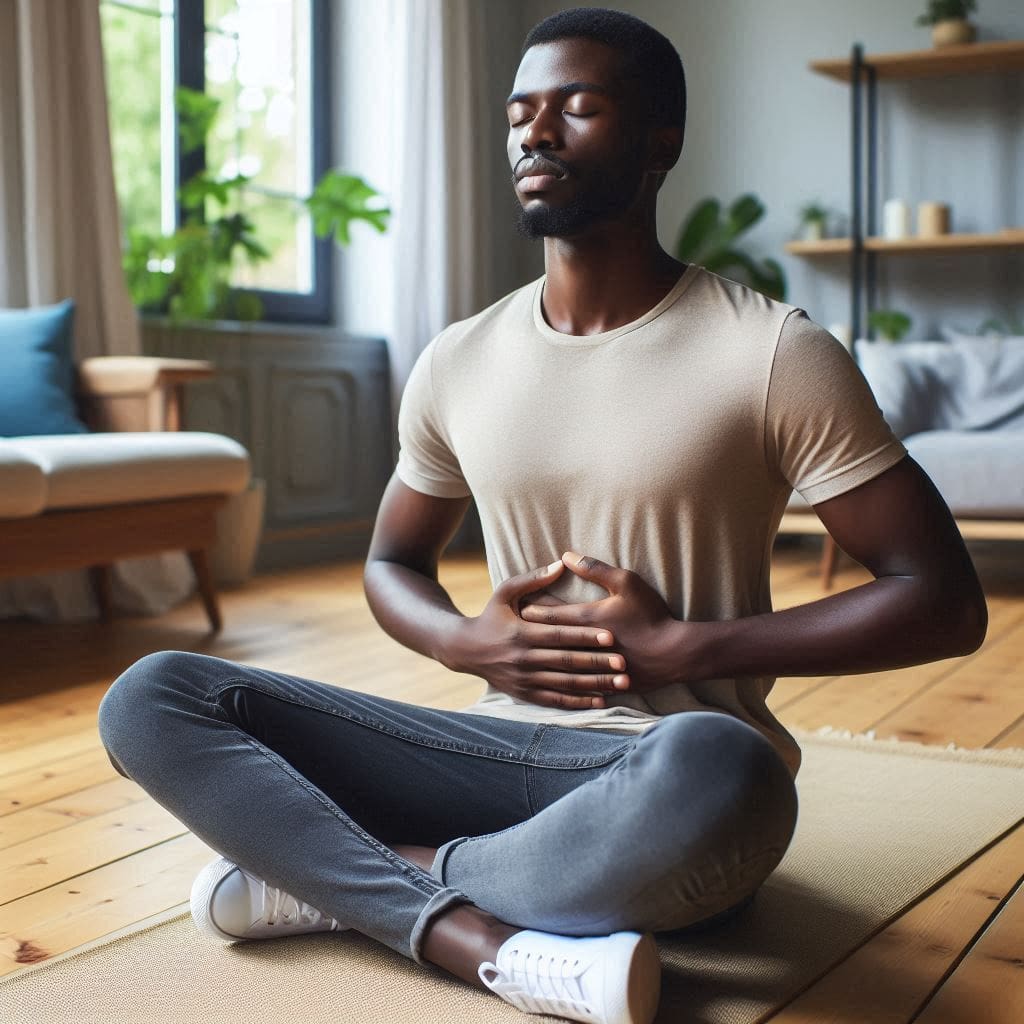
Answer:
POLYGON ((894 466, 906 449, 850 353, 803 309, 785 318, 765 409, 769 462, 811 505, 894 466))

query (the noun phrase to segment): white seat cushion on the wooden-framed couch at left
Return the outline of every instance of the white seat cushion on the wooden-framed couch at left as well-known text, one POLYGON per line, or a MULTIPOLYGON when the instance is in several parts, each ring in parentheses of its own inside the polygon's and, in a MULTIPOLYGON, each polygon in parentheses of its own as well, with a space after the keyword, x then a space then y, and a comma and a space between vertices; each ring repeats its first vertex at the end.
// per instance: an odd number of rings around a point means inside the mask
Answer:
POLYGON ((220 434, 62 434, 8 445, 46 474, 47 509, 229 495, 249 482, 248 453, 220 434))

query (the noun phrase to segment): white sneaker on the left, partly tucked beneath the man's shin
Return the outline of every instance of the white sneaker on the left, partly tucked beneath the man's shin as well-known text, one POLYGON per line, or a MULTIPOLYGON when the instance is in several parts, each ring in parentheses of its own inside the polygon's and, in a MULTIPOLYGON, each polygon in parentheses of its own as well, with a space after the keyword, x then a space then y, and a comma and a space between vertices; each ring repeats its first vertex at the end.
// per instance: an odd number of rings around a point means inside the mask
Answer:
POLYGON ((225 942, 336 932, 344 927, 223 857, 199 872, 189 902, 199 930, 208 938, 225 942))

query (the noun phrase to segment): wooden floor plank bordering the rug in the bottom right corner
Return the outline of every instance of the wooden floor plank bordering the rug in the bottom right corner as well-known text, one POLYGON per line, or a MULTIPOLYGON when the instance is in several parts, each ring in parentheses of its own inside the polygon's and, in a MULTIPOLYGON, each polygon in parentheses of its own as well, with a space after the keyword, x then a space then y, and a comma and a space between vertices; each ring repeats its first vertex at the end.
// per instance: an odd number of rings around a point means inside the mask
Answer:
MULTIPOLYGON (((1022 863, 1024 826, 769 1018, 771 1024, 906 1024, 984 928, 993 906, 1013 891, 1022 863)), ((975 1017, 972 1024, 983 1020, 975 1017)))

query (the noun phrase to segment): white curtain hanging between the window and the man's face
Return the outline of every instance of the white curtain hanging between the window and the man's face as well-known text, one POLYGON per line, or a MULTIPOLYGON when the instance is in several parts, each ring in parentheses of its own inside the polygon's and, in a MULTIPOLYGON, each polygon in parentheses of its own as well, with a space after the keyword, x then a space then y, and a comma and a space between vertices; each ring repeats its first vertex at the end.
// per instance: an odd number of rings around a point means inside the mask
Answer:
POLYGON ((393 72, 390 339, 397 395, 416 357, 492 295, 488 148, 477 0, 390 0, 393 72), (482 229, 481 229, 482 228, 482 229))

